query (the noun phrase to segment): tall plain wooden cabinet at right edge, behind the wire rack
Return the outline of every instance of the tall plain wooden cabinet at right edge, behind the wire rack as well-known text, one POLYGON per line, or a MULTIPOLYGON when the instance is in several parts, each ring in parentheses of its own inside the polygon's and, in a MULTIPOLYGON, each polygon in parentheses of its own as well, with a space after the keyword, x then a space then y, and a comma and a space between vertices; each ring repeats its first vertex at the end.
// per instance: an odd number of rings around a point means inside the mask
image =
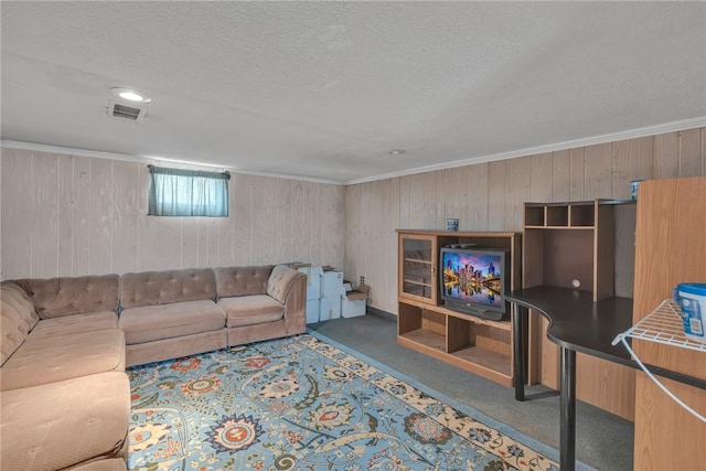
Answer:
MULTIPOLYGON (((646 317, 680 282, 706 282, 706 178, 640 185, 633 321, 646 317)), ((648 364, 706 381, 706 354, 633 340, 648 364)), ((706 414, 706 390, 664 379, 677 397, 706 414)), ((706 424, 674 403, 642 372, 635 383, 635 470, 703 470, 706 424)))

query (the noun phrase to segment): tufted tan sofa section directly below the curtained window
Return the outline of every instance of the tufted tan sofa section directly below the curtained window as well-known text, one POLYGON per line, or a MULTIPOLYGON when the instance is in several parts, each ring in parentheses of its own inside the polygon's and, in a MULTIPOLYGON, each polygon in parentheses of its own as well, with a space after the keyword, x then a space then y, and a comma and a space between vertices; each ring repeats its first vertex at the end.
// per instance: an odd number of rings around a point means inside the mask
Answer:
POLYGON ((225 314, 211 268, 122 275, 119 327, 127 365, 224 349, 225 314))

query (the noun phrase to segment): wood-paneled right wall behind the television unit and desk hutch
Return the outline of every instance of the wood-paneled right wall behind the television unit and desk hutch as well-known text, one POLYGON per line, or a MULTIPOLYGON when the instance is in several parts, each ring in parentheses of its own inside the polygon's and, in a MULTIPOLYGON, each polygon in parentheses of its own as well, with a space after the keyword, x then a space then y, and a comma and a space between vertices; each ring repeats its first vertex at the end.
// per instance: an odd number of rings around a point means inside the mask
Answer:
MULTIPOLYGON (((397 313, 396 228, 522 231, 523 203, 627 200, 630 181, 706 174, 706 128, 346 186, 345 274, 397 313)), ((620 257, 618 263, 620 263, 620 257)), ((631 270, 630 270, 631 271, 631 270)))

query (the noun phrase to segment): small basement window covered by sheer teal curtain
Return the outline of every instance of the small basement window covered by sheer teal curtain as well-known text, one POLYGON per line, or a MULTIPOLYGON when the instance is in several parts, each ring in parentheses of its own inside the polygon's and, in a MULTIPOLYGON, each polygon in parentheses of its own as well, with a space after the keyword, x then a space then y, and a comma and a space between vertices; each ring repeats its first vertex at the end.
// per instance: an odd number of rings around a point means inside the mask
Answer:
POLYGON ((149 165, 152 216, 228 216, 228 172, 149 165))

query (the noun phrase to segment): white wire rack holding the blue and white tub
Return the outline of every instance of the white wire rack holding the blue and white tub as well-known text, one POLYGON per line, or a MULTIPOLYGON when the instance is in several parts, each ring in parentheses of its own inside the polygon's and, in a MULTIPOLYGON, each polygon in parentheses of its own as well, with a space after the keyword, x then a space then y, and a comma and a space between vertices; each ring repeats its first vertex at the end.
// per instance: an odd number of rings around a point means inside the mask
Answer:
POLYGON ((706 343, 699 343, 684 335, 682 310, 671 299, 665 299, 655 310, 641 319, 637 324, 619 334, 613 345, 623 338, 641 339, 666 345, 706 352, 706 343))

